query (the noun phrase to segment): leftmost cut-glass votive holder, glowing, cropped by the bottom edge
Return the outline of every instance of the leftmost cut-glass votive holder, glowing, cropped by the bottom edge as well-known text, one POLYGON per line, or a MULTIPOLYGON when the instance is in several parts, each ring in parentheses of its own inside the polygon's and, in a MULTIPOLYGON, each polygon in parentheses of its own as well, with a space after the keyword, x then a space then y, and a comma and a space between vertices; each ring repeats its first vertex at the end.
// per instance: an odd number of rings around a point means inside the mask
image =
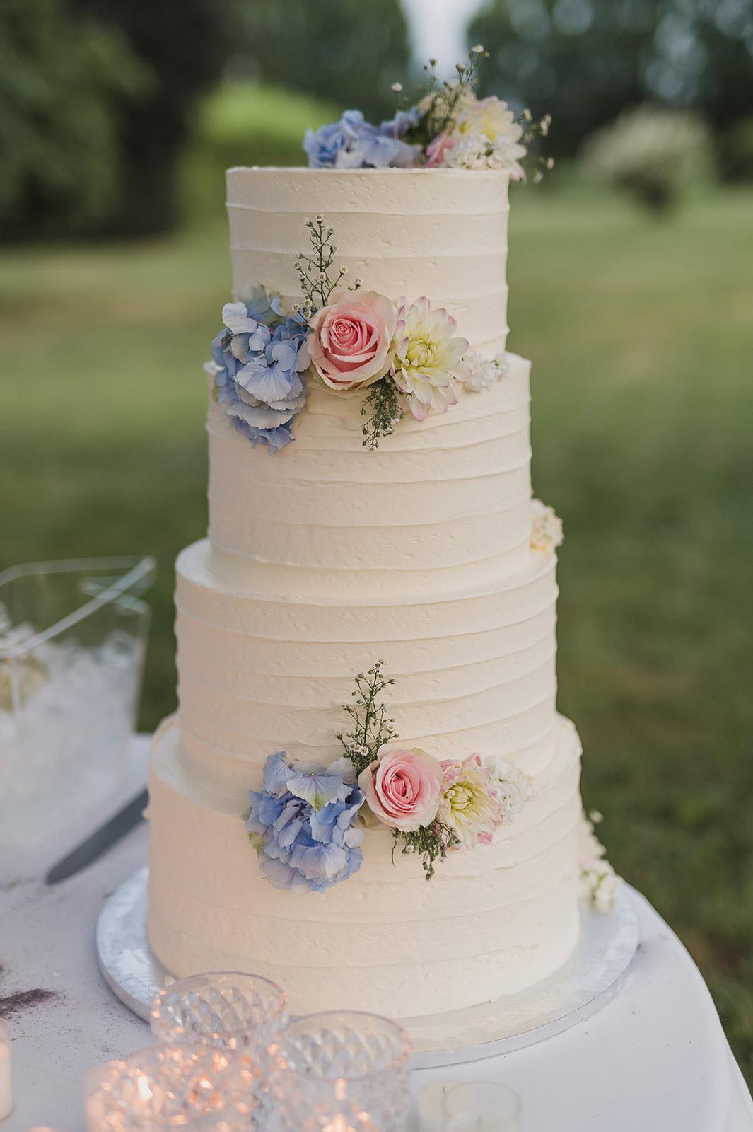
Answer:
POLYGON ((253 1072, 211 1046, 159 1043, 84 1078, 88 1132, 262 1129, 253 1072))

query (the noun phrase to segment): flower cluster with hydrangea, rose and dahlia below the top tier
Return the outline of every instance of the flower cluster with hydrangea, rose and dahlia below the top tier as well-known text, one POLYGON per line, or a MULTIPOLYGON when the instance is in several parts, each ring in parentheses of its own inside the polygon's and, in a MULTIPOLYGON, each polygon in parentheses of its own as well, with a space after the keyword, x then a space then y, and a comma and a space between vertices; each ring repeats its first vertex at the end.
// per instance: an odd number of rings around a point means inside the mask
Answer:
POLYGON ((223 307, 211 343, 214 398, 252 445, 279 452, 293 439, 305 403, 305 375, 334 394, 363 391, 363 445, 373 451, 406 413, 424 421, 458 402, 458 384, 478 392, 508 371, 505 355, 484 358, 457 323, 422 295, 393 302, 361 281, 345 286, 335 268, 334 230, 323 216, 306 222, 310 251, 300 252, 301 301, 289 312, 279 295, 253 288, 223 307))

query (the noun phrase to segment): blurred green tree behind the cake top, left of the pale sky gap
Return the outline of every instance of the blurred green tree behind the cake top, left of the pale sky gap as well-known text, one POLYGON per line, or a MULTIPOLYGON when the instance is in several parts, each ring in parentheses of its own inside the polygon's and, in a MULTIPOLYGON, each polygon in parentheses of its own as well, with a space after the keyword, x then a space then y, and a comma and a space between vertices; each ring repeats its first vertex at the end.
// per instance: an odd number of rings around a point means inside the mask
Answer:
MULTIPOLYGON (((410 52, 399 0, 236 0, 251 77, 391 114, 410 52)), ((239 60, 240 62, 241 60, 239 60)))

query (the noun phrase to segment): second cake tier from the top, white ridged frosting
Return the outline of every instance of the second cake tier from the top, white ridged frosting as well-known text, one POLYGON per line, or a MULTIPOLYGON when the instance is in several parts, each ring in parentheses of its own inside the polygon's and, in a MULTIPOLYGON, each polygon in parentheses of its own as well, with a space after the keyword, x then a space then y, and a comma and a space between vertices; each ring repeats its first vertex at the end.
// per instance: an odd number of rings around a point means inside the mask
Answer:
POLYGON ((363 451, 362 394, 310 380, 296 440, 274 461, 210 402, 216 573, 315 593, 326 571, 343 595, 418 597, 520 571, 530 538, 529 363, 509 355, 509 365, 491 389, 461 392, 422 424, 403 421, 373 453, 363 451))

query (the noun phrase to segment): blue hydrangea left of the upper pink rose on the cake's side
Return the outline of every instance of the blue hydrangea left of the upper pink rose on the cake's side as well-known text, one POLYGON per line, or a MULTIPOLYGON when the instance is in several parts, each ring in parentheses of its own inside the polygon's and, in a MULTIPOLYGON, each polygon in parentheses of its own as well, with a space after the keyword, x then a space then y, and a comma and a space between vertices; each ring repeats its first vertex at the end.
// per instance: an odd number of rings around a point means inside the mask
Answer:
POLYGON ((256 288, 225 303, 223 323, 211 343, 215 400, 252 445, 279 452, 293 439, 293 418, 305 402, 305 321, 283 315, 279 299, 256 288))

